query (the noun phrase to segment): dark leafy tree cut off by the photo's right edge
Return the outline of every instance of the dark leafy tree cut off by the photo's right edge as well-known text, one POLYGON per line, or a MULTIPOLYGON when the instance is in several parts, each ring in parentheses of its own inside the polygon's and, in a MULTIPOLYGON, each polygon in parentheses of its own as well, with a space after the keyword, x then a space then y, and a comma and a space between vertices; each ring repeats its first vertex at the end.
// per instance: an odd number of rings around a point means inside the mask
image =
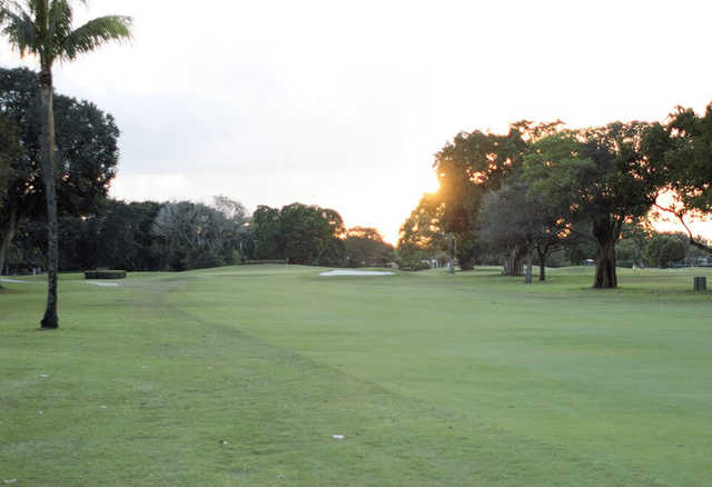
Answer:
POLYGON ((670 202, 659 199, 657 209, 674 215, 688 232, 690 244, 712 254, 690 221, 712 213, 712 103, 704 115, 679 107, 668 122, 654 123, 643 143, 650 166, 670 202))

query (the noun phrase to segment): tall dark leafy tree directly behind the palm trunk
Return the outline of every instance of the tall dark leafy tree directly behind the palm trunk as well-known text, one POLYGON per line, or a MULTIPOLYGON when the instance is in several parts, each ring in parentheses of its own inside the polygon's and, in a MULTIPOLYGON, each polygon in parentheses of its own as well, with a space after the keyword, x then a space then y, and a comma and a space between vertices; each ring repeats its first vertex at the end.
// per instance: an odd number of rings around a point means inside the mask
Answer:
MULTIPOLYGON (((61 95, 53 101, 61 162, 55 171, 58 212, 77 217, 96 213, 115 176, 119 130, 113 118, 93 103, 61 95)), ((37 73, 0 68, 0 116, 18 128, 20 146, 10 159, 8 190, 0 195, 1 269, 18 226, 26 219, 43 219, 47 213, 37 73)))

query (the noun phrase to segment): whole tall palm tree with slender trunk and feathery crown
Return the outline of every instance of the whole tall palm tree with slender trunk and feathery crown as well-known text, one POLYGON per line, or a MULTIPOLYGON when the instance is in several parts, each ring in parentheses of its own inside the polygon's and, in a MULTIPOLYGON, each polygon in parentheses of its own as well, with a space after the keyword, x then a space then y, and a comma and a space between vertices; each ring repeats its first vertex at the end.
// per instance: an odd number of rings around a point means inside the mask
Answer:
MULTIPOLYGON (((86 0, 79 0, 86 4, 86 0)), ((57 317, 57 270, 59 242, 57 232, 57 193, 55 168, 55 111, 52 66, 55 61, 72 61, 112 40, 131 38, 131 18, 107 16, 72 27, 70 0, 0 0, 0 27, 20 56, 33 54, 40 62, 40 98, 42 110, 42 173, 47 192, 48 280, 47 310, 41 327, 59 327, 57 317)))

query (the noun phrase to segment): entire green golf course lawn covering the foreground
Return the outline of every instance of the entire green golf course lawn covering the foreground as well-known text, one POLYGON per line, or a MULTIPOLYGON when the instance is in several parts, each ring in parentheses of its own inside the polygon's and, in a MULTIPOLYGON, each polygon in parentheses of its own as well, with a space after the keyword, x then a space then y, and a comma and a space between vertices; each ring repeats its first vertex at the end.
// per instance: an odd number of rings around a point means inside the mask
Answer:
POLYGON ((712 484, 712 272, 319 270, 6 284, 0 483, 712 484))

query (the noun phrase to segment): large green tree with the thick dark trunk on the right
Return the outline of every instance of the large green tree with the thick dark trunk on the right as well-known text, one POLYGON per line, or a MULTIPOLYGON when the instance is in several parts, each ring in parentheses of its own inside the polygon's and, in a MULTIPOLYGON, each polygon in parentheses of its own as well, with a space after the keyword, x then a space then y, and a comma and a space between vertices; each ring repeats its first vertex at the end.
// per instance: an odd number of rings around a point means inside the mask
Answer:
POLYGON ((531 192, 557 209, 567 231, 596 246, 594 288, 617 287, 615 244, 624 222, 642 218, 657 191, 641 152, 646 126, 610 123, 562 130, 524 158, 531 192))

